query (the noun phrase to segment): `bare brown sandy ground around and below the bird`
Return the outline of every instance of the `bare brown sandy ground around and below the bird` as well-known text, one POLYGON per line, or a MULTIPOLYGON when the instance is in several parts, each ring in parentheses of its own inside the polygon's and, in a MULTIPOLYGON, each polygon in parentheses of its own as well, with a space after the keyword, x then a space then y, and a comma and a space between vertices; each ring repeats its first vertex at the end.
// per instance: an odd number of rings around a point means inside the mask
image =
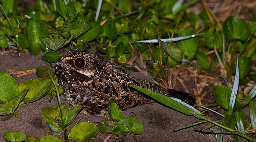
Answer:
MULTIPOLYGON (((35 69, 38 66, 50 66, 49 63, 41 59, 42 55, 32 56, 30 53, 17 53, 0 51, 0 71, 15 72, 20 70, 35 69)), ((33 78, 38 78, 35 73, 17 77, 12 75, 18 84, 23 81, 33 78)), ((64 103, 64 100, 62 101, 64 103)), ((41 109, 46 106, 57 104, 56 98, 49 101, 49 97, 45 96, 42 99, 28 104, 21 105, 17 111, 19 117, 12 116, 9 120, 0 121, 0 142, 5 142, 3 134, 6 131, 23 131, 27 136, 35 136, 41 138, 47 134, 54 135, 47 126, 47 123, 41 117, 41 109)), ((197 121, 195 117, 186 116, 172 109, 168 109, 158 103, 145 104, 126 111, 123 111, 125 117, 138 118, 143 124, 143 133, 141 135, 103 135, 98 134, 96 138, 90 142, 214 142, 215 135, 201 134, 193 131, 194 128, 173 132, 175 129, 183 125, 197 121)), ((84 116, 79 114, 73 125, 80 122, 99 123, 105 117, 84 116)), ((200 127, 199 127, 200 128, 200 127)), ((69 129, 70 130, 70 129, 69 129)), ((55 135, 56 136, 56 135, 55 135)), ((59 136, 61 138, 61 136, 59 136)), ((228 140, 228 138, 226 139, 228 140)), ((70 140, 70 142, 72 142, 70 140)))

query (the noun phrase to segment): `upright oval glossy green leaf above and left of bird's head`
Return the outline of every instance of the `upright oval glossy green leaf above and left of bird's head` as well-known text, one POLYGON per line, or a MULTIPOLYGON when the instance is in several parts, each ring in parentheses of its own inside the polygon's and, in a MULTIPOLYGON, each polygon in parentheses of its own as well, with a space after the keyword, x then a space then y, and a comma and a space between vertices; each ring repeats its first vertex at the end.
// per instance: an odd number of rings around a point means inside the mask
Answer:
POLYGON ((44 47, 40 41, 40 37, 50 37, 47 28, 39 19, 35 17, 29 19, 27 23, 27 36, 29 51, 33 55, 38 55, 41 53, 41 47, 44 47))

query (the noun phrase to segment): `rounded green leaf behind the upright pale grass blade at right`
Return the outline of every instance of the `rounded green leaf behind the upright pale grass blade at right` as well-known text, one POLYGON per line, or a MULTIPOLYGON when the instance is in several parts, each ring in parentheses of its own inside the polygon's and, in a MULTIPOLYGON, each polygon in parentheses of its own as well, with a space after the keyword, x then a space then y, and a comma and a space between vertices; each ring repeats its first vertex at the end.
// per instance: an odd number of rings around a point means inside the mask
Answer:
MULTIPOLYGON (((250 72, 250 67, 253 64, 253 61, 251 60, 250 57, 239 57, 238 59, 238 63, 239 63, 239 74, 240 74, 240 78, 239 80, 243 80, 250 72)), ((235 74, 236 73, 236 61, 232 67, 232 73, 235 74)))

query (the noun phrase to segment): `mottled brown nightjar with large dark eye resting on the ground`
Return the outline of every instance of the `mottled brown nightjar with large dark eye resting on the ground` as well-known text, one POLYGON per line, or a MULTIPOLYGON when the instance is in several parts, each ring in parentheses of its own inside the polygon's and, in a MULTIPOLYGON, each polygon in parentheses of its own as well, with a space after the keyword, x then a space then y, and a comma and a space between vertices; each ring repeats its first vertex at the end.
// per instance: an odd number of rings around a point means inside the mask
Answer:
POLYGON ((134 78, 119 65, 101 61, 94 53, 81 49, 68 52, 55 63, 55 76, 64 89, 66 101, 73 106, 82 105, 85 114, 101 115, 108 111, 109 100, 116 102, 122 110, 151 101, 129 84, 195 103, 195 98, 188 93, 134 78))

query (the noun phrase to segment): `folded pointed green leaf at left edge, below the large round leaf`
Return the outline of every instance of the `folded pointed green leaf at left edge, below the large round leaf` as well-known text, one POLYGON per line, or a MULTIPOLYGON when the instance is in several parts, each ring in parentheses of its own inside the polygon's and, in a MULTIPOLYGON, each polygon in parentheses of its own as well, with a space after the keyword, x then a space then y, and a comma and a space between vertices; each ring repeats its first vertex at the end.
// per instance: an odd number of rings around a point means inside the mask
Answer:
POLYGON ((19 95, 12 97, 10 100, 0 105, 0 115, 9 115, 1 120, 8 120, 12 116, 12 114, 18 108, 18 106, 20 105, 20 102, 23 100, 27 92, 28 90, 24 90, 19 95))

